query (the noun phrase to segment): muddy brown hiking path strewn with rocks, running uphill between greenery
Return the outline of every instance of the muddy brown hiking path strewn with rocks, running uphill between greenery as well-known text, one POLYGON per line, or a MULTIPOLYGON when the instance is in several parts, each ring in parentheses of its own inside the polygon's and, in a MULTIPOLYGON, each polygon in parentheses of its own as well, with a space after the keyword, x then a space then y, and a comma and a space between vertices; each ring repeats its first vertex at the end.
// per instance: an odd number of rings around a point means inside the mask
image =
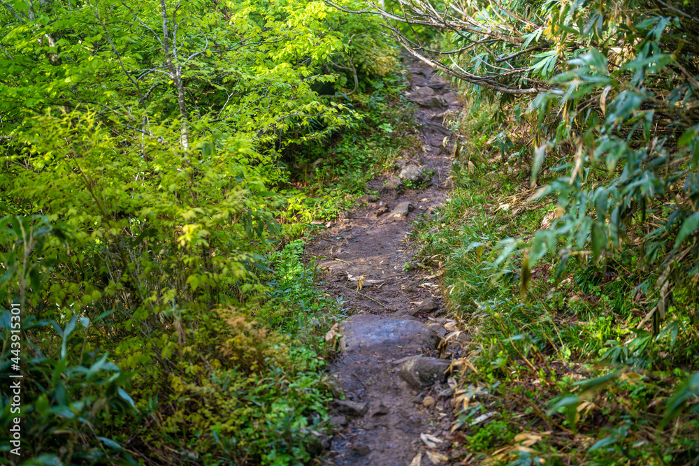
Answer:
POLYGON ((337 430, 326 466, 456 464, 447 450, 448 369, 459 346, 444 344, 454 322, 443 317, 435 272, 414 263, 408 233, 412 219, 431 214, 449 194, 454 141, 445 144, 451 133, 444 123, 461 105, 426 64, 411 61, 408 79, 423 147, 368 182, 356 209, 319 228, 306 247, 325 272, 321 288, 341 296, 349 315, 336 329, 342 337, 331 377, 345 400, 331 405, 337 430))

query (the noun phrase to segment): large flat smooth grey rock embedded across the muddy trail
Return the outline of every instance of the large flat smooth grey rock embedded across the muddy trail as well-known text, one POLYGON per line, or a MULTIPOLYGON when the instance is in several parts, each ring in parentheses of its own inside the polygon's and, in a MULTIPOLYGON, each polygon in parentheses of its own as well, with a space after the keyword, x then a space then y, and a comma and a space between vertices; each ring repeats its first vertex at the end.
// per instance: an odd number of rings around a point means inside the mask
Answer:
MULTIPOLYGON (((340 350, 403 349, 435 346, 439 336, 424 323, 415 320, 373 314, 356 314, 340 324, 340 350)), ((390 351, 393 352, 393 351, 390 351)))

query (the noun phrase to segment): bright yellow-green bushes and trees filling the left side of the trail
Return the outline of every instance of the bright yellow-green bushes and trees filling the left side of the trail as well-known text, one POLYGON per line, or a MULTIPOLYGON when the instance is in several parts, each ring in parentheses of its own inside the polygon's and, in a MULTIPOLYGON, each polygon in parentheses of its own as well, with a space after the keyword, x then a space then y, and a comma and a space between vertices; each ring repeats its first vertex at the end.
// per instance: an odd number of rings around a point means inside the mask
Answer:
POLYGON ((24 374, 24 454, 4 454, 308 462, 333 303, 284 245, 336 210, 287 167, 381 118, 377 22, 319 1, 10 0, 0 25, 0 368, 24 374))

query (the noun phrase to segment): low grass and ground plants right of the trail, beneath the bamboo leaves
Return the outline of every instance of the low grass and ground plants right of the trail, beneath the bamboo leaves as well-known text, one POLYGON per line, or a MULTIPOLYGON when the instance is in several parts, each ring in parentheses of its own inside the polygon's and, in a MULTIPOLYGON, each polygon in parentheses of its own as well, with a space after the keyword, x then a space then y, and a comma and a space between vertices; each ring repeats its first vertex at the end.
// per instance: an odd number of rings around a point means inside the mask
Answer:
POLYGON ((699 440, 696 415, 661 423, 669 407, 686 401, 670 397, 696 368, 695 334, 677 322, 656 336, 635 329, 643 317, 638 277, 627 270, 637 256, 617 270, 572 262, 558 280, 556 258, 547 257, 521 296, 522 257, 512 256, 514 266, 503 270, 496 246, 522 232, 531 238, 556 211, 545 198, 527 202, 528 176, 491 143, 495 109, 486 108, 461 122, 468 159, 454 164, 449 203, 422 219, 415 235, 422 263, 445 264, 445 298, 468 335, 448 337, 464 355, 457 361, 463 373, 454 449, 474 463, 689 462, 699 440), (495 415, 471 425, 487 413, 495 415))

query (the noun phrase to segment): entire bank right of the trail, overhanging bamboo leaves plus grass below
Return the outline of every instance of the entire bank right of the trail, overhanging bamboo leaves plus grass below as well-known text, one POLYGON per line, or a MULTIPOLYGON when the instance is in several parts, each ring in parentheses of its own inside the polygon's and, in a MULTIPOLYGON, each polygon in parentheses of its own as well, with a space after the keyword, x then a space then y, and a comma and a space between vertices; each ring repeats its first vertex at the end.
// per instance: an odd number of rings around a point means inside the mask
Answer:
POLYGON ((696 463, 696 4, 393 11, 398 38, 495 115, 459 122, 457 191, 421 240, 473 333, 469 383, 503 397, 464 409, 463 425, 505 410, 512 433, 540 435, 512 444, 498 421, 483 435, 498 442, 469 448, 509 464, 696 463), (401 22, 431 34, 401 37, 401 22))

